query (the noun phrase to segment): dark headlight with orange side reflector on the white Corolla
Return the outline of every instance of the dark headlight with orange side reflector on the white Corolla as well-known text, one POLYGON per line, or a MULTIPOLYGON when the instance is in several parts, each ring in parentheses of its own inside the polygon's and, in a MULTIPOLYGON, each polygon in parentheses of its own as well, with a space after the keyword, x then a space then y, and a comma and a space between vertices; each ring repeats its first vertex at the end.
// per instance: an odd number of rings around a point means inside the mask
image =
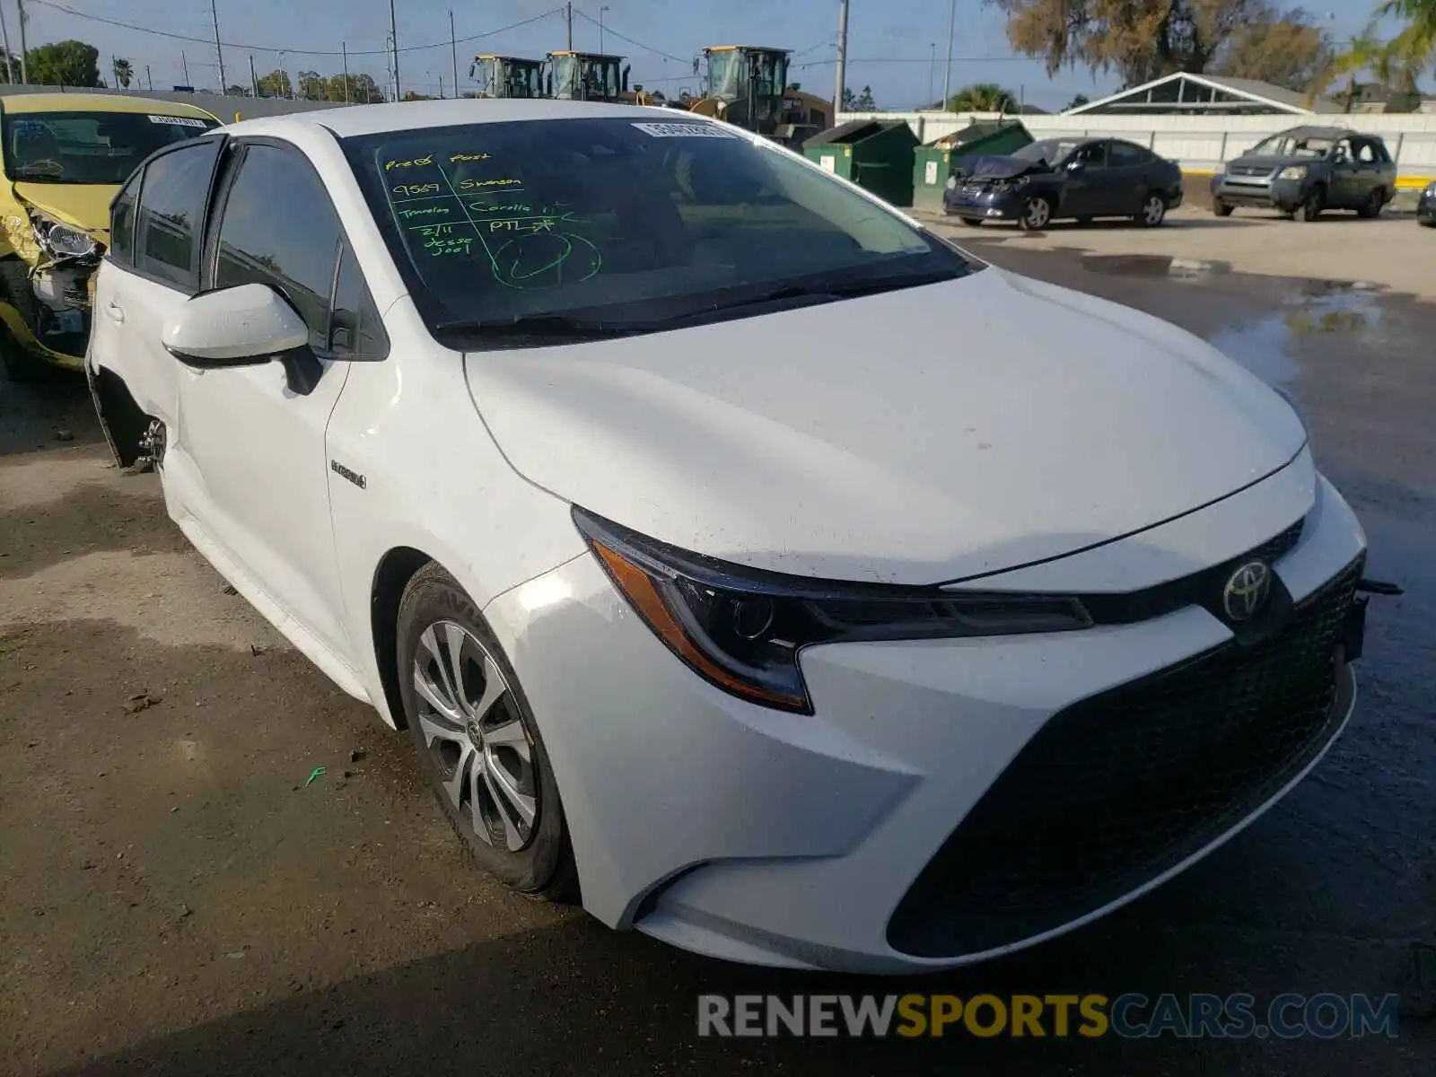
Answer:
POLYGON ((748 702, 811 714, 798 652, 837 640, 1070 632, 1093 620, 1060 595, 810 580, 745 569, 646 538, 574 505, 613 586, 694 672, 748 702))

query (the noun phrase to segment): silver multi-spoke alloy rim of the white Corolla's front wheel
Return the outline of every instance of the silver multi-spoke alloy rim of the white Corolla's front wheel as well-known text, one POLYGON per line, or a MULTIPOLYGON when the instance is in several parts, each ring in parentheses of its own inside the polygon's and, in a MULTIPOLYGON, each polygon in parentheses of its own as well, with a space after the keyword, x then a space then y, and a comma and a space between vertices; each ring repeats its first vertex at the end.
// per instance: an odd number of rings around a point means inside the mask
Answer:
POLYGON ((462 625, 438 620, 414 655, 416 719, 444 791, 485 844, 516 853, 538 827, 538 757, 508 682, 462 625))

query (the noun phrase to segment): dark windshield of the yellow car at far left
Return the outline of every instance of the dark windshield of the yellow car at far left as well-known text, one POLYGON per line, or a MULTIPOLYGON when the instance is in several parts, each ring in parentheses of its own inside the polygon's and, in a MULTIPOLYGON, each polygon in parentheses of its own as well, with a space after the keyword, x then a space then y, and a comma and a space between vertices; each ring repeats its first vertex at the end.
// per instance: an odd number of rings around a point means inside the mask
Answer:
POLYGON ((121 184, 151 152, 218 126, 144 112, 20 112, 4 116, 4 172, 42 184, 121 184))

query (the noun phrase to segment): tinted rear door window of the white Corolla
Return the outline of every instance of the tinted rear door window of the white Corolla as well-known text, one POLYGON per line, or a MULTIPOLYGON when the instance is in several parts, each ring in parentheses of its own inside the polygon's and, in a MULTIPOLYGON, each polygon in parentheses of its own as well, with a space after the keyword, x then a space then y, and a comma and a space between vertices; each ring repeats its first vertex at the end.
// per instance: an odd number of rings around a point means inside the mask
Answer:
POLYGON ((185 292, 200 287, 200 221, 220 139, 192 142, 145 165, 136 215, 135 267, 185 292))

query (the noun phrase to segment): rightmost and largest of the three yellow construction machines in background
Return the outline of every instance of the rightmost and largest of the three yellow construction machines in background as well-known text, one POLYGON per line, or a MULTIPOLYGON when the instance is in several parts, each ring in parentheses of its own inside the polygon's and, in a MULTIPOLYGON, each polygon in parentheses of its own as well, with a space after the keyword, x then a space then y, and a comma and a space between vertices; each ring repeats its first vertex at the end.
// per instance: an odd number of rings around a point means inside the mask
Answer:
MULTIPOLYGON (((833 125, 831 105, 788 85, 787 49, 714 45, 702 50, 704 95, 686 108, 754 131, 790 148, 833 125)), ((699 60, 694 60, 698 73, 699 60)))

